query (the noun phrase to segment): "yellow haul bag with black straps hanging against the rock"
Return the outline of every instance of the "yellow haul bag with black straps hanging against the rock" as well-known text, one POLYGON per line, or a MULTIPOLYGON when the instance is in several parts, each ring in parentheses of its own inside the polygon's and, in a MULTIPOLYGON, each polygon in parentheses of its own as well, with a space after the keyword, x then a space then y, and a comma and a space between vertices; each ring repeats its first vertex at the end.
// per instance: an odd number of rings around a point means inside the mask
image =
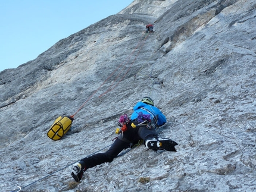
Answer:
POLYGON ((47 133, 49 139, 55 141, 61 139, 70 129, 73 120, 71 117, 58 117, 47 133))

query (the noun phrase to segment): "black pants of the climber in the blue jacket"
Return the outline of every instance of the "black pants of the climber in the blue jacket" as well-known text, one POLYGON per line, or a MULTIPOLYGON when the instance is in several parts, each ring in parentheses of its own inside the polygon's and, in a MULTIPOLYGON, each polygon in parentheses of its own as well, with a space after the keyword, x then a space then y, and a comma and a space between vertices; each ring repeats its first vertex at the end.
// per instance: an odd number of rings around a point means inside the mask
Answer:
MULTIPOLYGON (((157 133, 153 128, 150 130, 145 126, 132 128, 130 124, 127 125, 128 129, 124 131, 123 136, 120 134, 107 152, 97 153, 80 160, 79 163, 82 165, 82 170, 92 168, 101 163, 111 162, 122 150, 129 148, 131 143, 138 143, 139 140, 144 140, 145 142, 146 139, 157 137, 157 133)), ((137 123, 135 122, 135 124, 137 123)))

